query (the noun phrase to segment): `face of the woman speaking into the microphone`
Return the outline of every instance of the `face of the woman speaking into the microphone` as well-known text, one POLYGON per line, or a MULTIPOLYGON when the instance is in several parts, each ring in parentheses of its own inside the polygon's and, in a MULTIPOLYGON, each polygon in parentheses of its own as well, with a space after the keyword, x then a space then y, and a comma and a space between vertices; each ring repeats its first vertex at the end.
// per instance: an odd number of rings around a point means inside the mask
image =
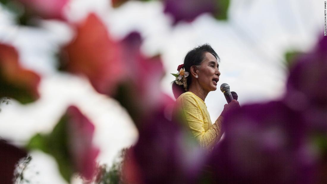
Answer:
POLYGON ((205 59, 198 69, 198 81, 202 89, 206 92, 215 91, 219 81, 219 65, 214 55, 209 52, 205 53, 205 59))

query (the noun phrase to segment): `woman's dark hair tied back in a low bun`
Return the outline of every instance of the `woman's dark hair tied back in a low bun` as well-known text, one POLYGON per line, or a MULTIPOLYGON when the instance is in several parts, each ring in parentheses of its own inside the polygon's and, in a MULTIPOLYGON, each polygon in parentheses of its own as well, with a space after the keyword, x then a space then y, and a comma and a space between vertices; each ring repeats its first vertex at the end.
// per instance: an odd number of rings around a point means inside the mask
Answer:
MULTIPOLYGON (((192 83, 192 77, 191 77, 191 66, 196 65, 199 66, 202 61, 204 60, 205 57, 205 53, 209 52, 211 53, 213 56, 215 56, 215 58, 218 60, 218 62, 220 61, 219 56, 217 55, 217 53, 215 52, 215 50, 208 44, 203 44, 200 45, 198 47, 193 48, 192 50, 188 51, 188 53, 185 56, 184 59, 184 68, 185 68, 185 72, 189 72, 190 75, 187 77, 187 89, 188 87, 191 85, 192 83)), ((175 98, 177 99, 182 93, 185 92, 185 89, 183 87, 183 85, 178 85, 175 83, 175 80, 172 82, 173 86, 173 93, 175 98)))

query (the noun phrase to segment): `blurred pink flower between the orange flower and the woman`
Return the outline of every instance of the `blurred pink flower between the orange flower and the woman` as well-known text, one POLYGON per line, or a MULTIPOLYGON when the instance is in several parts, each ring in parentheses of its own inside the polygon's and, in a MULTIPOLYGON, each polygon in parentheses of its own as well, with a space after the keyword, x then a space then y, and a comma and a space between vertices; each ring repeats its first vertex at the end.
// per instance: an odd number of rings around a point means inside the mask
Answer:
POLYGON ((159 56, 147 58, 142 54, 141 43, 141 36, 136 32, 120 42, 121 62, 127 73, 121 81, 121 91, 115 97, 132 117, 147 114, 163 97, 160 82, 164 76, 162 61, 159 56))

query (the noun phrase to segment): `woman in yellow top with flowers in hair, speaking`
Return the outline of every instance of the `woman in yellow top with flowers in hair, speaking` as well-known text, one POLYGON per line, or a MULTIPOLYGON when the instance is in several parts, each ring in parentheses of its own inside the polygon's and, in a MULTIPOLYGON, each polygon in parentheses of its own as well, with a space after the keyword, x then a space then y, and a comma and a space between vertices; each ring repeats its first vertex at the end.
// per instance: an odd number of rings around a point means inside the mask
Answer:
POLYGON ((173 82, 173 93, 176 98, 176 111, 191 134, 201 147, 211 150, 220 140, 223 114, 229 109, 239 107, 236 100, 225 104, 221 115, 212 124, 205 105, 209 92, 217 89, 219 81, 219 57, 209 44, 198 46, 189 51, 184 64, 178 66, 178 74, 173 82))

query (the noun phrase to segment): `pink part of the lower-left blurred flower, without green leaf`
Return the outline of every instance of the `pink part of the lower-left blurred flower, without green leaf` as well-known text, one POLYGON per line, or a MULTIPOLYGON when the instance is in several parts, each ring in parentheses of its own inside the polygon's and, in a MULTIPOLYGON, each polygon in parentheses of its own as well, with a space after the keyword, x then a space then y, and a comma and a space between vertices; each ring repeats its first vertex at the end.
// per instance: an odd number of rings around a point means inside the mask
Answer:
POLYGON ((92 144, 94 125, 75 106, 67 109, 69 149, 77 169, 83 177, 90 180, 96 169, 95 159, 99 148, 92 144))

